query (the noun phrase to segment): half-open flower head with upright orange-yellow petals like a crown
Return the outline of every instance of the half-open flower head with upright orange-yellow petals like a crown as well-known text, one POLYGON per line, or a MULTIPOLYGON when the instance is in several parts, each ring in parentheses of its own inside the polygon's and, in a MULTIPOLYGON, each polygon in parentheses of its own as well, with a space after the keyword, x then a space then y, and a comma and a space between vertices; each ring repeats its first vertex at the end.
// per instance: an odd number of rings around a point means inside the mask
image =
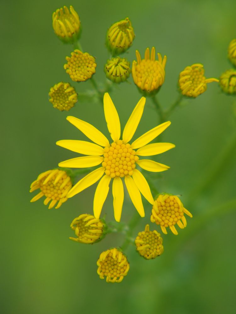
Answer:
POLYGON ((150 57, 150 51, 147 48, 144 59, 141 59, 139 51, 136 50, 137 61, 134 60, 132 64, 134 83, 148 93, 156 91, 165 80, 166 56, 162 60, 161 54, 157 55, 158 60, 155 60, 155 48, 152 47, 150 57))

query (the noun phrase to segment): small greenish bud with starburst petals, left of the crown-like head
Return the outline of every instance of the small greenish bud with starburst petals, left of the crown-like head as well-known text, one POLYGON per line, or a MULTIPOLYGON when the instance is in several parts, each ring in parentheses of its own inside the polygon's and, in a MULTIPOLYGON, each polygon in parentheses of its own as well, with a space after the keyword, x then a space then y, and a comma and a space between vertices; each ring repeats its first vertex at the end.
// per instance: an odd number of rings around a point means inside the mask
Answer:
POLYGON ((115 57, 107 60, 104 72, 115 83, 124 82, 130 75, 130 63, 126 58, 115 57))

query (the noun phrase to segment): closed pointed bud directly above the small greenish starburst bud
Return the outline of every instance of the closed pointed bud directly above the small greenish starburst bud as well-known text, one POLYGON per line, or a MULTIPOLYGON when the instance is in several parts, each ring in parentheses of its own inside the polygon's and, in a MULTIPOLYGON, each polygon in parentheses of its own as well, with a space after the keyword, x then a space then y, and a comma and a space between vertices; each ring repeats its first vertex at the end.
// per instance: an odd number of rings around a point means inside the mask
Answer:
POLYGON ((134 40, 134 31, 129 18, 117 22, 107 31, 107 46, 113 55, 125 52, 134 40))

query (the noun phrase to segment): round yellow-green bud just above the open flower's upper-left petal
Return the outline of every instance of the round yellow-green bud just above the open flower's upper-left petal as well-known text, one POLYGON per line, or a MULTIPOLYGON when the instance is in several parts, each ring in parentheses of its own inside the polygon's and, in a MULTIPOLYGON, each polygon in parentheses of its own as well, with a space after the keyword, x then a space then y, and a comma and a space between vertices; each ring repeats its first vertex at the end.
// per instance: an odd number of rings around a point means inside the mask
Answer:
POLYGON ((69 83, 60 82, 50 88, 49 101, 53 104, 53 108, 60 111, 69 111, 77 102, 77 94, 69 83))

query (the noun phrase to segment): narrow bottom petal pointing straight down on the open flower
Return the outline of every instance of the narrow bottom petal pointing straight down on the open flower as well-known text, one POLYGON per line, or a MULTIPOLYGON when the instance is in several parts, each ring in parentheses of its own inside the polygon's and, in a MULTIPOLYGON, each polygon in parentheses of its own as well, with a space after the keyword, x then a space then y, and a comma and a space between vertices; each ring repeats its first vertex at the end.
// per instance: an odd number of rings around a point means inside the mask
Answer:
POLYGON ((121 178, 118 176, 113 180, 112 194, 115 220, 120 222, 124 202, 124 187, 121 178))

